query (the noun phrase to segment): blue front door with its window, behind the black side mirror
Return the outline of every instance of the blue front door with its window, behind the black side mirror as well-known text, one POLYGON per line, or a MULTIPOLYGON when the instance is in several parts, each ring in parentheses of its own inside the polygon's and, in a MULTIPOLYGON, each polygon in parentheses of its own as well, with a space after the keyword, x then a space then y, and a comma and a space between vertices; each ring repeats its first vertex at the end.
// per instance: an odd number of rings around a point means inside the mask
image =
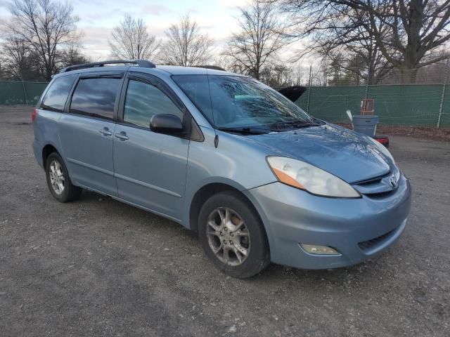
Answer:
POLYGON ((184 202, 189 139, 150 131, 154 114, 190 121, 176 95, 157 77, 127 75, 114 137, 119 197, 179 220, 184 202))

